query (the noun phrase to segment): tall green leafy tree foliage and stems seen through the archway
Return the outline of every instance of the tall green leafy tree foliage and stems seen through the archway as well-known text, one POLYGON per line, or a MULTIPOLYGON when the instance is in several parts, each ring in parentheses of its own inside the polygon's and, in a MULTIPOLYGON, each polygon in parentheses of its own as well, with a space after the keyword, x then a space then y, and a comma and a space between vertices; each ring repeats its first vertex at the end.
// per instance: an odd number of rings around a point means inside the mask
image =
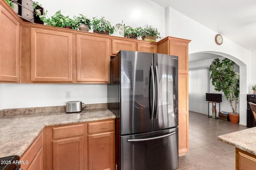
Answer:
POLYGON ((224 59, 221 62, 218 58, 214 59, 209 71, 214 89, 224 93, 232 107, 232 114, 238 115, 239 113, 236 111, 239 96, 239 73, 234 70, 234 62, 229 59, 224 59), (233 106, 233 101, 235 101, 235 106, 233 106))

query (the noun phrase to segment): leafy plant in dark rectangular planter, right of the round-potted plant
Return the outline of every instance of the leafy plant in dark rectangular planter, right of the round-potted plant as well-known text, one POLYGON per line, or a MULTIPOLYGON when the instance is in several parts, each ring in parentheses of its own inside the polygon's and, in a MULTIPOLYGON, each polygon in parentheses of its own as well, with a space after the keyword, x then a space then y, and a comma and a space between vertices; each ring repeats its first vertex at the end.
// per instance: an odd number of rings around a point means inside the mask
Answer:
POLYGON ((92 28, 94 33, 102 33, 106 35, 111 35, 114 33, 114 26, 111 25, 105 17, 97 19, 96 17, 92 18, 92 28))

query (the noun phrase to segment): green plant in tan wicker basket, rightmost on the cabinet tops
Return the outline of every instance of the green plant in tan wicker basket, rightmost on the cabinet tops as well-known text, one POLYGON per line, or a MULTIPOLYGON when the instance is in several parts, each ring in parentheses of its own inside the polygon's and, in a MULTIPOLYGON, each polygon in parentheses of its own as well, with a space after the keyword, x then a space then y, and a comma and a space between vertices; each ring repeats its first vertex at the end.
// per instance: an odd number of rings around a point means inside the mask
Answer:
POLYGON ((142 40, 145 41, 156 42, 157 38, 161 38, 160 33, 157 31, 157 28, 154 28, 148 24, 139 29, 139 35, 142 37, 142 40))

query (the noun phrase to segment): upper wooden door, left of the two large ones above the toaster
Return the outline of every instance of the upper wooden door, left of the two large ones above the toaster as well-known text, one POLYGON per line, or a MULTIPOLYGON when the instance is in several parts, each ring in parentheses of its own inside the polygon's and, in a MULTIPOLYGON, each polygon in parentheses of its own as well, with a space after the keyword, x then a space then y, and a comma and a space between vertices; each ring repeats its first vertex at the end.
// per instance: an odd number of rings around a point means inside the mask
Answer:
POLYGON ((72 82, 72 33, 31 28, 31 81, 72 82))

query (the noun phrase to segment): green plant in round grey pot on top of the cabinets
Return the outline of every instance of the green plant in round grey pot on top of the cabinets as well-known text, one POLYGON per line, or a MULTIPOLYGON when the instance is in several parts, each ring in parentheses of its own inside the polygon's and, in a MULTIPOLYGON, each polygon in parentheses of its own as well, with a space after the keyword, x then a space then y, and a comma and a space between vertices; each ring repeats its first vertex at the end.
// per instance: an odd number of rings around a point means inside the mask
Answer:
POLYGON ((84 15, 79 14, 80 16, 74 16, 76 27, 73 29, 78 29, 81 31, 89 31, 91 29, 91 20, 86 18, 84 15))

